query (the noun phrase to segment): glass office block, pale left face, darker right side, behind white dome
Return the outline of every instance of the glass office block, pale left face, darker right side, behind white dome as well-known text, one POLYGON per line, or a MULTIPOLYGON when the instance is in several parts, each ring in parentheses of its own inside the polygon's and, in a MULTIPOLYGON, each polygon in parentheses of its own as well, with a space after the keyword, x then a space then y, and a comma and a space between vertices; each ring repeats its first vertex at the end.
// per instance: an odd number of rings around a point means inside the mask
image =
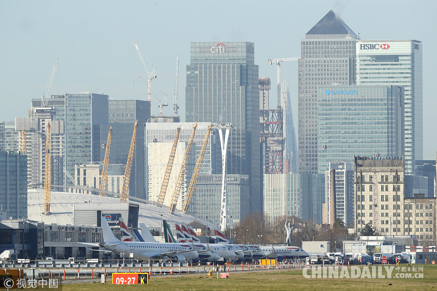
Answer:
MULTIPOLYGON (((108 95, 65 94, 65 167, 73 176, 74 166, 104 159, 109 130, 108 95)), ((66 185, 74 185, 70 179, 66 185)))

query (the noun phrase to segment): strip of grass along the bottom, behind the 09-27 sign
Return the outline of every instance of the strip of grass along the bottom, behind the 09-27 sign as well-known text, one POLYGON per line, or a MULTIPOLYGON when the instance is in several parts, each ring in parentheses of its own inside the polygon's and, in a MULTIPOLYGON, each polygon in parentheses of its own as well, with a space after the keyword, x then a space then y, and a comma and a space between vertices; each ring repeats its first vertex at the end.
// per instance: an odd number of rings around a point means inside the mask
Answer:
MULTIPOLYGON (((401 265, 403 266, 403 265, 401 265)), ((407 265, 404 265, 407 266, 407 265)), ((152 276, 149 285, 112 285, 108 278, 106 284, 67 284, 62 286, 63 291, 85 291, 85 290, 351 290, 351 291, 372 291, 372 290, 437 290, 437 265, 411 265, 423 266, 423 278, 390 278, 390 279, 306 279, 302 270, 275 270, 257 271, 229 274, 229 278, 218 278, 214 274, 210 278, 206 274, 173 276, 152 276)), ((393 275, 397 271, 393 272, 393 275)), ((311 272, 308 272, 311 274, 311 272)), ((386 273, 383 273, 386 275, 386 273)))

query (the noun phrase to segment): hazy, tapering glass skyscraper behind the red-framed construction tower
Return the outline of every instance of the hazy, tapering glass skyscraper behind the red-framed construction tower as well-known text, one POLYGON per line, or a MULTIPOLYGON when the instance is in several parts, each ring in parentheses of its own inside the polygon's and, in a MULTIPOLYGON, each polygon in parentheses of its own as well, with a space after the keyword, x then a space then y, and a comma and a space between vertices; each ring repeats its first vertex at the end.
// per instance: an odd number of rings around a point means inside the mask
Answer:
POLYGON ((296 142, 296 131, 294 129, 293 123, 293 112, 291 110, 291 100, 290 100, 290 90, 288 89, 288 82, 284 81, 282 83, 282 101, 281 104, 283 108, 284 116, 284 133, 285 133, 285 151, 284 151, 284 161, 285 161, 285 172, 297 174, 299 172, 298 166, 298 151, 296 142))

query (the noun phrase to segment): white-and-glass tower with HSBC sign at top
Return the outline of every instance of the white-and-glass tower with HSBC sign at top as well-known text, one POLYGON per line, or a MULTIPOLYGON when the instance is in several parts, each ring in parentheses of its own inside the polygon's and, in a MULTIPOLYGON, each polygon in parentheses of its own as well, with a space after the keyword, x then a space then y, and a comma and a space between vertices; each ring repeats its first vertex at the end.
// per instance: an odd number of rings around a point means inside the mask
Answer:
POLYGON ((356 43, 357 85, 405 88, 405 174, 413 175, 423 155, 422 43, 417 40, 360 40, 356 43))

